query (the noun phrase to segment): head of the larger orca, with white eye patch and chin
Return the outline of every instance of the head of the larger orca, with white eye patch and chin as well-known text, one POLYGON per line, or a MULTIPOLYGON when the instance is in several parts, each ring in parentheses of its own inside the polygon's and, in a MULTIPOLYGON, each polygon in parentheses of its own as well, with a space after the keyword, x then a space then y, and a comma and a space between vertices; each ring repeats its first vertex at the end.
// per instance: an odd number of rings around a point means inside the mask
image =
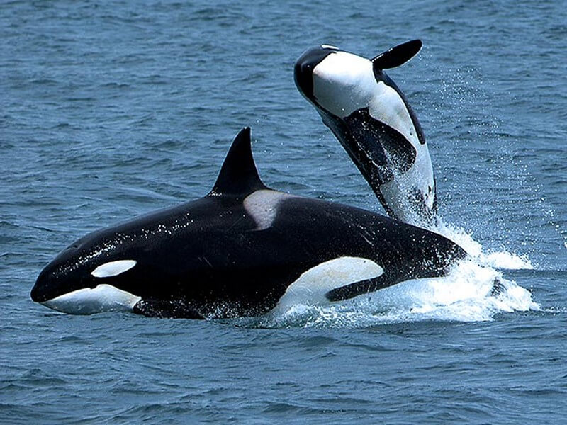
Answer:
POLYGON ((137 255, 108 230, 86 235, 47 264, 31 299, 69 314, 132 310, 141 300, 133 283, 143 273, 137 255))

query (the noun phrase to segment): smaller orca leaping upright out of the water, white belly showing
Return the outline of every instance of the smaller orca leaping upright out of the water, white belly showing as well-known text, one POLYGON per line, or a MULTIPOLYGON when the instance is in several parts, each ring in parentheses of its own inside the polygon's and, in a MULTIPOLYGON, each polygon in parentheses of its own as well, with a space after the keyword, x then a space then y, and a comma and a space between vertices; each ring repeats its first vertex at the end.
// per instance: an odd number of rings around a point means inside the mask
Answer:
POLYGON ((384 69, 420 51, 412 40, 368 60, 322 45, 296 61, 294 79, 361 171, 391 217, 432 226, 437 196, 422 128, 384 69))

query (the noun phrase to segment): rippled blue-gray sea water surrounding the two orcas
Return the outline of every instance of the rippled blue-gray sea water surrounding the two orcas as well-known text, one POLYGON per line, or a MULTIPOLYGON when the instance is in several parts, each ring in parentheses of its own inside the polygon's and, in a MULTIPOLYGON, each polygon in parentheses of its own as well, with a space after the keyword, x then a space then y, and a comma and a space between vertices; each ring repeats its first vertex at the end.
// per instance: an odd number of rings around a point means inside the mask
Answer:
POLYGON ((566 52, 564 1, 2 1, 0 423, 564 424, 566 52), (207 193, 245 125, 269 186, 381 210, 292 67, 410 38, 389 74, 478 265, 260 319, 31 302, 77 237, 207 193), (498 273, 507 292, 479 295, 498 273))

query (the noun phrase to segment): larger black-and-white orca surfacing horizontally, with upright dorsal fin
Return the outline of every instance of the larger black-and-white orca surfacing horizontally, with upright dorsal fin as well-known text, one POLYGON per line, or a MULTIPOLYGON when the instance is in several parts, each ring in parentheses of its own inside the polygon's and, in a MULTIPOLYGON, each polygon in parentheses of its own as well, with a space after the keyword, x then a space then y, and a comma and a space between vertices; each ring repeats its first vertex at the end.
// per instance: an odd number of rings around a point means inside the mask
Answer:
POLYGON ((207 196, 87 234, 30 295, 72 314, 254 316, 294 295, 335 302, 444 276, 465 256, 428 230, 267 188, 244 128, 207 196))

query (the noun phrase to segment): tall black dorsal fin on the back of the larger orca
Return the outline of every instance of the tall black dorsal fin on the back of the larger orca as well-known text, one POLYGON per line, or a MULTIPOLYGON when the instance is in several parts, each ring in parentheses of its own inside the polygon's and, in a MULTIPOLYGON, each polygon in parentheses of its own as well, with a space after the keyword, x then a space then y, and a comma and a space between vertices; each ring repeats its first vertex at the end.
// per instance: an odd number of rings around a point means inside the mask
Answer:
POLYGON ((250 128, 245 127, 232 142, 209 195, 247 194, 265 188, 252 157, 250 128))

